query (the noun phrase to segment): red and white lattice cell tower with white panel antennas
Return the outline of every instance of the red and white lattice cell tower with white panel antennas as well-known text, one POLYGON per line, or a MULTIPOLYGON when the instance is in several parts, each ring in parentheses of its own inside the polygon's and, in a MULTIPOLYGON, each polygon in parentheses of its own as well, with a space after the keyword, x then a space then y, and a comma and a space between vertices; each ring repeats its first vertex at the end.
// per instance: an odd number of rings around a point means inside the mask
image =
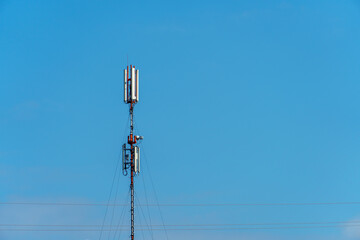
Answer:
POLYGON ((134 107, 139 102, 139 70, 132 65, 124 70, 124 102, 130 105, 130 135, 122 146, 122 171, 124 176, 130 171, 131 240, 134 240, 134 176, 140 173, 140 148, 137 143, 143 137, 134 134, 134 107))

